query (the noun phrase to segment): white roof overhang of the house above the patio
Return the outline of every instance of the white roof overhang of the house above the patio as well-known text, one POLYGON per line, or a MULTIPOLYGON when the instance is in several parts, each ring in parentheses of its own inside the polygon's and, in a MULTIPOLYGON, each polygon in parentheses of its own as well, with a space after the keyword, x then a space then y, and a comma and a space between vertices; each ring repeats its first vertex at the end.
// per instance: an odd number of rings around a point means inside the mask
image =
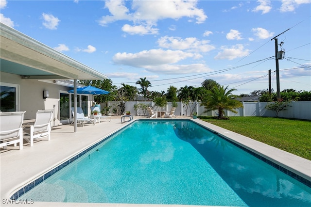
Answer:
POLYGON ((102 80, 104 74, 0 23, 1 71, 29 80, 102 80))

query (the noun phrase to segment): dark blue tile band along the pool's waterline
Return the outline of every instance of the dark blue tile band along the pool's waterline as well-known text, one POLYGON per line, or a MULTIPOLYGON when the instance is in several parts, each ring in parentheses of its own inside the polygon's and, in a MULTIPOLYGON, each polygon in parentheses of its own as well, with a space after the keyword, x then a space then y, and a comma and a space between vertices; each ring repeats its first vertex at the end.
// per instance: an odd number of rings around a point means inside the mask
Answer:
MULTIPOLYGON (((161 119, 154 119, 154 120, 149 120, 149 119, 141 119, 141 120, 135 120, 134 122, 132 122, 131 124, 137 122, 137 121, 164 121, 164 120, 161 120, 161 119)), ((178 120, 178 121, 191 121, 193 122, 192 120, 185 120, 185 119, 174 119, 174 120, 178 120)), ((166 120, 167 121, 167 120, 166 120)), ((264 158, 262 156, 260 156, 259 154, 243 147, 242 145, 238 144, 238 143, 235 143, 229 139, 227 139, 226 137, 224 137, 222 134, 219 134, 218 132, 216 131, 213 131, 211 129, 209 129, 208 127, 206 126, 203 126, 197 122, 193 122, 201 127, 204 127, 206 128, 207 130, 217 134, 218 136, 220 136, 221 138, 223 138, 224 140, 226 140, 227 142, 229 143, 232 143, 233 145, 239 147, 240 149, 242 149, 243 151, 249 153, 250 155, 264 161, 265 163, 273 166, 274 168, 276 168, 277 170, 281 171, 282 173, 285 173, 286 175, 289 175, 291 177, 293 177, 294 179, 296 179, 297 181, 301 182, 302 184, 308 186, 311 188, 311 181, 306 179, 306 178, 303 178, 301 177, 300 175, 297 175, 295 174, 294 172, 276 164, 275 162, 267 159, 267 158, 264 158)), ((129 126, 129 125, 127 125, 129 126)), ((127 127, 126 126, 126 127, 127 127)), ((30 191, 31 189, 33 189, 35 186, 39 185, 41 182, 43 182, 45 179, 49 178, 50 176, 52 176, 53 174, 57 173, 58 171, 60 171, 61 169, 63 169, 64 167, 66 167, 67 165, 69 165, 70 163, 72 163, 73 161, 75 161, 76 159, 82 157, 83 155, 85 155, 87 152, 89 152, 90 150, 94 149, 96 146, 98 146, 99 144, 103 143, 104 141, 106 141, 107 139, 111 138, 112 136, 114 136, 116 133, 120 132, 121 130, 123 130, 124 128, 126 127, 123 127, 121 129, 119 129, 118 131, 115 131, 114 133, 110 134, 109 136, 105 137, 104 139, 100 140, 99 142, 93 144, 92 146, 88 147, 87 149, 85 149, 84 151, 82 151, 81 153, 79 153, 78 155, 70 158, 69 160, 63 162, 62 164, 58 165, 57 167, 53 168, 52 170, 50 170, 49 172, 45 173, 44 175, 42 175, 41 177, 35 179, 35 181, 27 184, 26 186, 24 186, 23 188, 19 189, 18 191, 16 191, 10 199, 15 199, 17 200, 20 196, 22 196, 23 194, 25 194, 26 192, 30 191)))

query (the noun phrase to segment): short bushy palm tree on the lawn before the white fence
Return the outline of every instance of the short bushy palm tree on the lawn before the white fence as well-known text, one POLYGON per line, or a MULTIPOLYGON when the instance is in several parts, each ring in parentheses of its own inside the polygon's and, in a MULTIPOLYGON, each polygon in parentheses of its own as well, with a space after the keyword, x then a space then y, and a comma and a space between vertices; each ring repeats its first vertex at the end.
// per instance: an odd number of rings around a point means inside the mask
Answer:
POLYGON ((242 103, 236 99, 233 99, 234 95, 231 93, 237 89, 228 90, 228 86, 217 87, 214 86, 211 91, 207 92, 206 98, 202 101, 201 105, 205 107, 207 111, 218 110, 218 117, 223 118, 225 109, 231 112, 237 113, 235 109, 243 107, 242 103))

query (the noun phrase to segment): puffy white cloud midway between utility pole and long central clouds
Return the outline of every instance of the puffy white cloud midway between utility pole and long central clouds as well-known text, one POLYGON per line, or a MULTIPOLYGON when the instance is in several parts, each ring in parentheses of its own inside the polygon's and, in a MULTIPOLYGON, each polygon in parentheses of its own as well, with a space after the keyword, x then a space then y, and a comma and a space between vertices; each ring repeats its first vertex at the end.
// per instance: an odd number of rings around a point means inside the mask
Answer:
POLYGON ((250 50, 245 49, 243 45, 237 44, 235 46, 232 46, 231 48, 227 48, 225 46, 221 47, 221 52, 219 52, 214 59, 220 60, 220 59, 228 59, 233 60, 235 58, 241 58, 249 54, 250 50))

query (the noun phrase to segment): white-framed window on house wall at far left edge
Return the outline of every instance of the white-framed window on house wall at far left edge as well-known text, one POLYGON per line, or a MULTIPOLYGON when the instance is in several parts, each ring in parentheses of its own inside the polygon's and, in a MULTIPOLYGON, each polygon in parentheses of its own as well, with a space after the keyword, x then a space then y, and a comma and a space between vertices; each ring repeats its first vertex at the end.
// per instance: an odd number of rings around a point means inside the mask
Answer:
POLYGON ((1 82, 0 110, 19 111, 19 85, 1 82))

